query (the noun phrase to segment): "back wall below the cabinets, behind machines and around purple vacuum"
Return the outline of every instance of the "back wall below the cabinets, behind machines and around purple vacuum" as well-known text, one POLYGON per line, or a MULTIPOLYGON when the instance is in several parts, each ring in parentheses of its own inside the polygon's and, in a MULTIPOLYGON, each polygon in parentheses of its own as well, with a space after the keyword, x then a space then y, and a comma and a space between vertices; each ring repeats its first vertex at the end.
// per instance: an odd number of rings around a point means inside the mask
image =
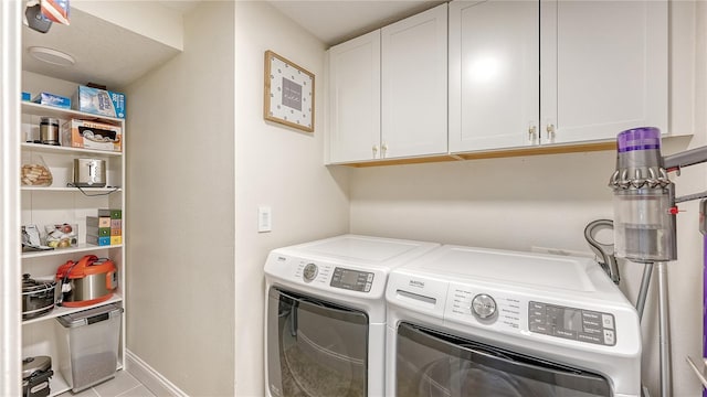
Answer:
MULTIPOLYGON (((664 154, 707 142, 705 7, 676 1, 671 10, 671 130, 694 137, 664 140, 664 154)), ((357 169, 350 181, 351 232, 492 248, 539 246, 591 253, 583 230, 593 219, 613 218, 608 182, 614 167, 615 152, 606 151, 357 169)), ((679 196, 705 191, 704 175, 705 165, 697 165, 671 179, 679 196)), ((701 357, 703 239, 697 202, 679 207, 678 260, 668 265, 668 294, 673 390, 674 396, 686 397, 700 393, 686 356, 701 357)), ((620 265, 622 290, 635 302, 643 266, 620 265)), ((643 323, 643 379, 651 395, 659 390, 656 281, 654 273, 643 323)))

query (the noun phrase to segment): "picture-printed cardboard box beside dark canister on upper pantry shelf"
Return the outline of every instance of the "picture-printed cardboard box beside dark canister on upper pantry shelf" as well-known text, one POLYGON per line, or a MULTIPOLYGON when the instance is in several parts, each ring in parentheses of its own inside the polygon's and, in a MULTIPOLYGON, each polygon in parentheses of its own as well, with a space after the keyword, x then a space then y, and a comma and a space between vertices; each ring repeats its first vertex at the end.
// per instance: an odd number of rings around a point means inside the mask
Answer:
POLYGON ((105 122, 72 119, 62 126, 62 146, 122 151, 123 130, 105 122))

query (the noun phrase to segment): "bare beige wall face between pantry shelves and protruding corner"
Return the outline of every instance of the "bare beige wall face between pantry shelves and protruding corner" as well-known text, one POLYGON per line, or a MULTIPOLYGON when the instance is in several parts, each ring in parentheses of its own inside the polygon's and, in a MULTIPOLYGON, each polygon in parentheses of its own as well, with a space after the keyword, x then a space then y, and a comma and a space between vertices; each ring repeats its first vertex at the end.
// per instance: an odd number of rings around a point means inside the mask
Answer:
POLYGON ((125 89, 127 347, 192 396, 234 395, 233 10, 200 4, 125 89))

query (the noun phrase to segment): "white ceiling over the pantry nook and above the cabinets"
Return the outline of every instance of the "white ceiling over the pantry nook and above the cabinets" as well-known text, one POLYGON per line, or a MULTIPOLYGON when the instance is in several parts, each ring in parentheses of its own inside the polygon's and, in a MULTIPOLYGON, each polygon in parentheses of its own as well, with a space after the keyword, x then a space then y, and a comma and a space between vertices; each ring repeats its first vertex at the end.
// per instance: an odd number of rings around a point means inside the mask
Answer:
MULTIPOLYGON (((186 14, 205 0, 158 0, 170 11, 186 14)), ((235 0, 246 1, 246 0, 235 0)), ((430 9, 441 0, 256 0, 268 1, 327 46, 430 9)), ((169 45, 72 8, 71 25, 54 23, 48 33, 22 26, 22 68, 41 75, 96 83, 120 90, 151 68, 179 53, 169 45), (71 54, 73 66, 38 61, 29 47, 44 46, 71 54), (116 54, 130 54, 129 58, 116 54)))

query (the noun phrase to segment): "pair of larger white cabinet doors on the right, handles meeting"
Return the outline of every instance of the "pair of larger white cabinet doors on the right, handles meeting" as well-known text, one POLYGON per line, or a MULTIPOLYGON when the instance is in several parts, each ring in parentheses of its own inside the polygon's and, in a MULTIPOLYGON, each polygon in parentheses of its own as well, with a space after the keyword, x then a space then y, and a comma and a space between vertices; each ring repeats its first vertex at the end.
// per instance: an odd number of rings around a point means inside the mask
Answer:
POLYGON ((450 3, 450 151, 667 127, 665 1, 450 3))

